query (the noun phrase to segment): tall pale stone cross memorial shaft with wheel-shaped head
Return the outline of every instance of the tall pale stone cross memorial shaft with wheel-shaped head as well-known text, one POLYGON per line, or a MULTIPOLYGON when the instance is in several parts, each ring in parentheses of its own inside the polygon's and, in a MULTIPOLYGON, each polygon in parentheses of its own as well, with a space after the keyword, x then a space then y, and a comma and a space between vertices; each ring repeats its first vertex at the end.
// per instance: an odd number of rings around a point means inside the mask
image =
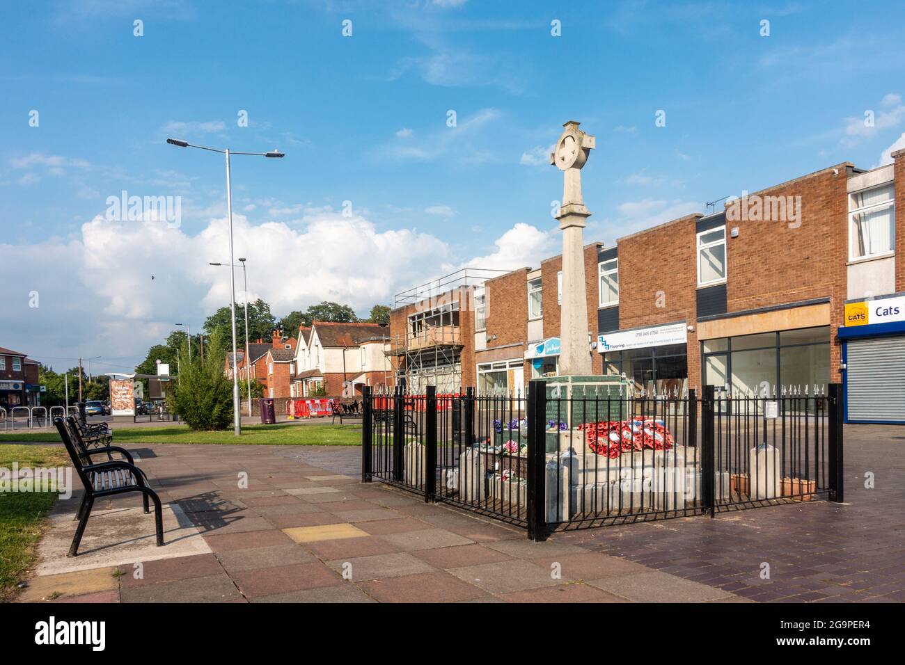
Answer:
POLYGON ((595 147, 595 138, 579 129, 578 125, 575 120, 569 120, 564 125, 566 129, 557 141, 556 151, 550 155, 550 163, 563 172, 565 181, 562 206, 557 213, 559 228, 563 232, 560 376, 591 374, 584 253, 584 228, 591 213, 581 196, 581 168, 595 147))

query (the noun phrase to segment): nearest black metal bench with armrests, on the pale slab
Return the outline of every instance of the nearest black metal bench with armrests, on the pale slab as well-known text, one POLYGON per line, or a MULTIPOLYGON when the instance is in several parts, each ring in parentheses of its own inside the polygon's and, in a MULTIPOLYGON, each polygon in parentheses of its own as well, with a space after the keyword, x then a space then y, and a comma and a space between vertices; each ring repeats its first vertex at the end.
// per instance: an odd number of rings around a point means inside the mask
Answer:
POLYGON ((62 418, 54 418, 53 424, 60 432, 60 438, 66 451, 69 453, 72 466, 79 475, 82 487, 85 489, 81 497, 79 509, 75 513, 75 519, 79 520, 79 526, 75 529, 72 544, 67 556, 78 556, 81 537, 88 526, 88 518, 94 499, 110 497, 128 492, 140 492, 145 513, 149 513, 148 499, 154 501, 154 521, 157 528, 157 546, 164 544, 163 515, 161 514, 160 498, 157 492, 148 487, 148 477, 144 471, 135 466, 132 455, 125 448, 118 446, 99 446, 88 448, 81 438, 78 430, 78 421, 69 416, 65 421, 62 418), (113 460, 112 453, 117 452, 123 456, 122 460, 113 460), (108 461, 93 463, 93 455, 107 455, 108 461))

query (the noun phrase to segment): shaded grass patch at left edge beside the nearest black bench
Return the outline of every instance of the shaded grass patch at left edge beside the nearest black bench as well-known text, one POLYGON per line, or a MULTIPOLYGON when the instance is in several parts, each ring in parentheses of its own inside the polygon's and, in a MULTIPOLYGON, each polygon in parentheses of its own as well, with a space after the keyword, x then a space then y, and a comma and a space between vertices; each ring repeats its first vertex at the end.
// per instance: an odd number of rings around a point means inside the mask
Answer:
MULTIPOLYGON (((0 445, 0 467, 69 466, 62 448, 46 446, 0 445)), ((56 500, 56 492, 0 492, 0 602, 18 594, 34 561, 34 546, 41 537, 44 518, 56 500)))

